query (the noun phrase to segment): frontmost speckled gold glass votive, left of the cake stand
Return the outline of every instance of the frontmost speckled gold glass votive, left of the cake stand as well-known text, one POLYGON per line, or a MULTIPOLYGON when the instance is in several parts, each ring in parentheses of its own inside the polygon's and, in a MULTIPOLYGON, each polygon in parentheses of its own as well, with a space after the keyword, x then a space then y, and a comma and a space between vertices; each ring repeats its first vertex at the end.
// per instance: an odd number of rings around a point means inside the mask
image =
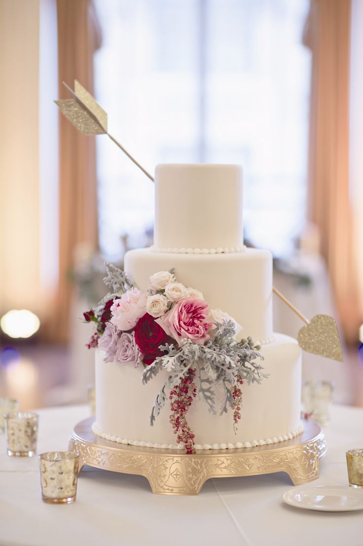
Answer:
POLYGON ((78 455, 51 451, 39 455, 41 497, 50 504, 70 504, 76 500, 78 455))

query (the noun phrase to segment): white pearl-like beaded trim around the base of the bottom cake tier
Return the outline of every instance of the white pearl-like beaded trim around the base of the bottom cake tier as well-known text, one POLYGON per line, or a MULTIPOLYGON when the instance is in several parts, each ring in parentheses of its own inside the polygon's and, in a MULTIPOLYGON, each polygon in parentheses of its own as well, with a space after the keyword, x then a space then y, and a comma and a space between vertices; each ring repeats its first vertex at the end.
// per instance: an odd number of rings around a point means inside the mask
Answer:
MULTIPOLYGON (((241 449, 241 448, 249 448, 249 447, 257 447, 257 446, 265 446, 266 444, 274 444, 278 442, 286 442, 286 440, 292 440, 292 438, 295 438, 295 436, 299 436, 299 434, 302 434, 304 431, 304 426, 302 423, 300 426, 293 430, 292 432, 288 432, 288 434, 284 434, 282 436, 274 436, 273 438, 266 438, 266 440, 251 440, 250 442, 236 442, 233 443, 214 443, 214 444, 195 444, 195 449, 241 449)), ((125 438, 119 438, 116 436, 111 436, 111 434, 106 434, 106 432, 102 432, 96 423, 93 423, 92 425, 92 432, 96 436, 100 436, 101 438, 105 438, 106 440, 111 440, 112 442, 122 443, 122 444, 129 444, 129 446, 140 446, 140 447, 153 447, 157 449, 185 449, 185 445, 183 443, 178 444, 177 446, 174 444, 160 444, 160 443, 152 443, 152 442, 144 442, 141 440, 126 440, 125 438)))

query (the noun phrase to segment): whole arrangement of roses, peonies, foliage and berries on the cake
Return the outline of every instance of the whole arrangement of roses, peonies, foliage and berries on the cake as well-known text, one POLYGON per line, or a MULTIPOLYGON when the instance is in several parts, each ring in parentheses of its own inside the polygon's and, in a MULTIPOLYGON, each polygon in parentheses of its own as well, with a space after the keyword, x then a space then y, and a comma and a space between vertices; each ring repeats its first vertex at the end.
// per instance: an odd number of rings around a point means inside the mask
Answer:
POLYGON ((226 312, 210 309, 199 290, 177 281, 174 270, 159 271, 150 277, 142 292, 124 271, 106 264, 104 279, 111 292, 93 310, 83 314, 95 324, 88 348, 99 347, 105 362, 144 366, 143 383, 160 371, 168 377, 156 396, 150 425, 170 401, 170 422, 177 443, 194 453, 195 434, 186 414, 199 396, 211 413, 223 414, 231 408, 233 426, 241 418, 244 383, 261 383, 267 374, 259 360, 260 347, 251 337, 235 341, 241 326, 226 312), (222 389, 222 403, 216 408, 216 389, 222 389))

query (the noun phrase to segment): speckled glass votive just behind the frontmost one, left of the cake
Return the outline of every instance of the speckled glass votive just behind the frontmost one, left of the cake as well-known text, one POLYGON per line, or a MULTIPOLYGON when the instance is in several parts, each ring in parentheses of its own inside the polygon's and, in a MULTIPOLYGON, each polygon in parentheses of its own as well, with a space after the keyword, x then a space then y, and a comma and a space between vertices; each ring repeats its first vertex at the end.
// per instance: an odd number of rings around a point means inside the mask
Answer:
POLYGON ((32 457, 35 455, 38 436, 38 413, 5 413, 8 455, 32 457))

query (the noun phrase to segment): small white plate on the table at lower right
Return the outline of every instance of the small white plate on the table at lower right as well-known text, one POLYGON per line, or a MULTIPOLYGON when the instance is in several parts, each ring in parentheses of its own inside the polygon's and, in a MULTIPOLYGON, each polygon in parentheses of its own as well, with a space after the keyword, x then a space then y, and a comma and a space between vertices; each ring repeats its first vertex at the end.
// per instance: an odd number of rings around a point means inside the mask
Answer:
POLYGON ((288 505, 306 510, 324 512, 348 512, 363 510, 363 490, 344 486, 324 486, 294 488, 282 495, 288 505))

